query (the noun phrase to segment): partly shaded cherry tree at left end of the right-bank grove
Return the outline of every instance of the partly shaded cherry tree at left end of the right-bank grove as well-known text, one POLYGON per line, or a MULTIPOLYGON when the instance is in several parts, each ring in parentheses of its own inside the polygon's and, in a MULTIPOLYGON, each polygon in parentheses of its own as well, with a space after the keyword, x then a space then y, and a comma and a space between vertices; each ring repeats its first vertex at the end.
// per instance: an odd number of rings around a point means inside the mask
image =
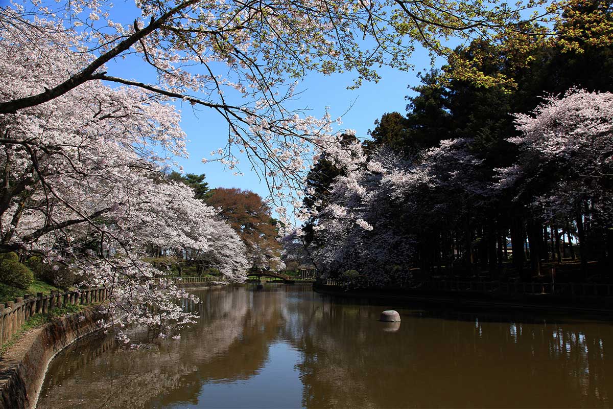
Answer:
MULTIPOLYGON (((411 278, 410 267, 427 269, 441 257, 449 263, 451 249, 433 243, 445 229, 479 218, 495 195, 470 143, 443 140, 412 158, 383 148, 339 175, 329 204, 312 215, 318 264, 329 274, 357 270, 361 285, 386 286, 411 278)), ((469 237, 469 263, 471 246, 469 237)))

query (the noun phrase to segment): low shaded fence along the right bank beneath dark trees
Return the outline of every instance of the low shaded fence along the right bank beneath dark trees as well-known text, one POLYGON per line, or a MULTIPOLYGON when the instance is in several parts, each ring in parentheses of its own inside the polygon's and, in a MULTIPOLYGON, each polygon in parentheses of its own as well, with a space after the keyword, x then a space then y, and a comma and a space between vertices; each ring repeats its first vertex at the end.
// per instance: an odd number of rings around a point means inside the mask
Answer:
MULTIPOLYGON (((326 280, 326 285, 343 286, 341 280, 326 280)), ((501 283, 500 281, 413 281, 398 289, 414 291, 497 292, 498 294, 558 294, 569 297, 611 297, 612 284, 596 283, 501 283)))

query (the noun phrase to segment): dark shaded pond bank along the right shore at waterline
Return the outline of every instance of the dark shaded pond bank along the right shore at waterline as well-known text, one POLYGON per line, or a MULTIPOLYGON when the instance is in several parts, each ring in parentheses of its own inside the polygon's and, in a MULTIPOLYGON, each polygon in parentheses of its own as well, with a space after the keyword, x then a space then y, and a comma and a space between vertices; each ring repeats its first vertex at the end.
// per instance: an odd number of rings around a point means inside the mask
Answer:
POLYGON ((447 304, 451 307, 466 305, 613 315, 613 297, 566 297, 559 294, 501 294, 497 291, 346 289, 343 286, 322 283, 314 283, 313 289, 316 292, 332 296, 367 298, 381 302, 419 302, 437 305, 447 304))

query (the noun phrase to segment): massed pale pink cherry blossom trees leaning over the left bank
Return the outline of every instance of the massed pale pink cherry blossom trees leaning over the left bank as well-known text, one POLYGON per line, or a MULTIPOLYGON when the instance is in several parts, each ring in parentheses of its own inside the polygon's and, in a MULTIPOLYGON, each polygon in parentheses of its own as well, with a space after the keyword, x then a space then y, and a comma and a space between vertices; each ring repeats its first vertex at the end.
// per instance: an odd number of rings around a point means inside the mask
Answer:
MULTIPOLYGON (((62 30, 4 32, 0 94, 74 71, 88 56, 70 50, 72 41, 62 30)), ((186 155, 180 117, 166 100, 97 80, 0 115, 1 250, 39 254, 79 273, 86 285, 106 286, 109 325, 146 324, 164 336, 192 321, 176 302, 191 296, 143 261, 150 245, 206 253, 230 280, 242 280, 246 268, 230 226, 162 172, 186 155)))

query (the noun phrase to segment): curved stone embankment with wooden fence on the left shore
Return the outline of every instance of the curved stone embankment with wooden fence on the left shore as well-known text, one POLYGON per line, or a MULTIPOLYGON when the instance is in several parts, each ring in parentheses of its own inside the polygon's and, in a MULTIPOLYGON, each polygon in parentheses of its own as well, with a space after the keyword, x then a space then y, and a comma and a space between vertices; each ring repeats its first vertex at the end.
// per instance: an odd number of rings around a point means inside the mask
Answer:
MULTIPOLYGON (((50 296, 19 297, 0 306, 0 340, 7 342, 32 315, 47 313, 54 308, 102 302, 108 295, 105 288, 89 288, 50 296)), ((0 409, 31 408, 36 404, 47 365, 64 347, 83 335, 97 331, 97 321, 103 319, 97 308, 59 317, 33 329, 20 338, 0 358, 0 409)))

